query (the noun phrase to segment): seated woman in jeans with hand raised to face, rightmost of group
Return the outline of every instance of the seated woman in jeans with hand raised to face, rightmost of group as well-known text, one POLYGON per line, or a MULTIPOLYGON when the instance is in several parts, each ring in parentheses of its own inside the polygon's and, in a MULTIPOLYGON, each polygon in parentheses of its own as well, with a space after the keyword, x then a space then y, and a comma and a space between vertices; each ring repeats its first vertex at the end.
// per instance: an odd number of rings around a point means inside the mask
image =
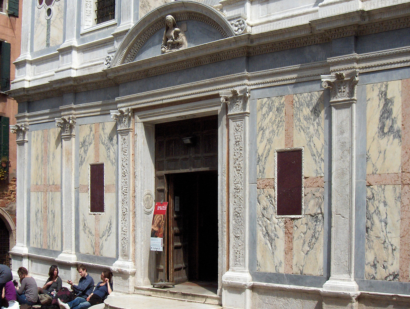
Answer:
POLYGON ((77 297, 75 300, 64 303, 58 299, 60 309, 86 309, 96 304, 102 304, 109 294, 112 292, 112 272, 109 269, 103 270, 101 273, 101 282, 98 282, 93 293, 87 299, 77 297))

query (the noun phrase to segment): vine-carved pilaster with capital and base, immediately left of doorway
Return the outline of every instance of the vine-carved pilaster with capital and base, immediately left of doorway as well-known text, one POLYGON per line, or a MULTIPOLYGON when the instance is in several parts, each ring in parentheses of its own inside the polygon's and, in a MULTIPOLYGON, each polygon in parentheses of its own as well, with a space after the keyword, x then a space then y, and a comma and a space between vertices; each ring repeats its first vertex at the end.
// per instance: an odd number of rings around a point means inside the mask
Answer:
MULTIPOLYGON (((117 122, 118 132, 118 260, 116 266, 133 269, 131 223, 131 119, 132 112, 111 110, 111 117, 117 122)), ((114 265, 115 266, 115 265, 114 265)))

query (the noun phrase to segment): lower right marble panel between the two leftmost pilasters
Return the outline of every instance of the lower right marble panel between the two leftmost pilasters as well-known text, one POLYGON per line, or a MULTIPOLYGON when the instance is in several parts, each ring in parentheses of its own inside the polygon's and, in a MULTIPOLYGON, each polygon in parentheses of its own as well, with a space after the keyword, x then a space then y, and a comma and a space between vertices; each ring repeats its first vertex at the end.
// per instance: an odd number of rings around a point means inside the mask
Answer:
POLYGON ((61 247, 61 192, 47 192, 47 248, 62 250, 61 247))

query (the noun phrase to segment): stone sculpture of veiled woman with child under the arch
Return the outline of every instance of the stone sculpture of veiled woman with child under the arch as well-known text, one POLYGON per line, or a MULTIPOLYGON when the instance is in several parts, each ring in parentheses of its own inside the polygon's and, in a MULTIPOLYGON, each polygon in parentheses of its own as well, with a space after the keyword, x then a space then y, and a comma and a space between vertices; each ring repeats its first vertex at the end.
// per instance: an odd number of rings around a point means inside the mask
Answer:
POLYGON ((177 27, 175 18, 172 15, 165 17, 165 31, 162 37, 161 53, 168 53, 188 47, 185 33, 177 27))

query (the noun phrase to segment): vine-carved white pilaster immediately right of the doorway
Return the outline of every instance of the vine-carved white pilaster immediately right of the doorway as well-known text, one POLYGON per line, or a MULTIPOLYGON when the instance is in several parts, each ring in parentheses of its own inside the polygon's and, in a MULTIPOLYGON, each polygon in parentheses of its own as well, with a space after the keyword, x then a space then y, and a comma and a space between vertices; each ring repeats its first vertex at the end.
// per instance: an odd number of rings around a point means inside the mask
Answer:
MULTIPOLYGON (((248 87, 220 92, 221 102, 228 105, 229 121, 229 271, 222 276, 226 282, 250 282, 248 268, 248 87)), ((225 283, 224 283, 225 282, 225 283)), ((228 291, 229 287, 225 289, 228 291)), ((223 292, 224 293, 224 292, 223 292)), ((251 307, 250 291, 245 290, 244 308, 251 307)), ((223 307, 231 307, 229 298, 222 297, 223 307)))

